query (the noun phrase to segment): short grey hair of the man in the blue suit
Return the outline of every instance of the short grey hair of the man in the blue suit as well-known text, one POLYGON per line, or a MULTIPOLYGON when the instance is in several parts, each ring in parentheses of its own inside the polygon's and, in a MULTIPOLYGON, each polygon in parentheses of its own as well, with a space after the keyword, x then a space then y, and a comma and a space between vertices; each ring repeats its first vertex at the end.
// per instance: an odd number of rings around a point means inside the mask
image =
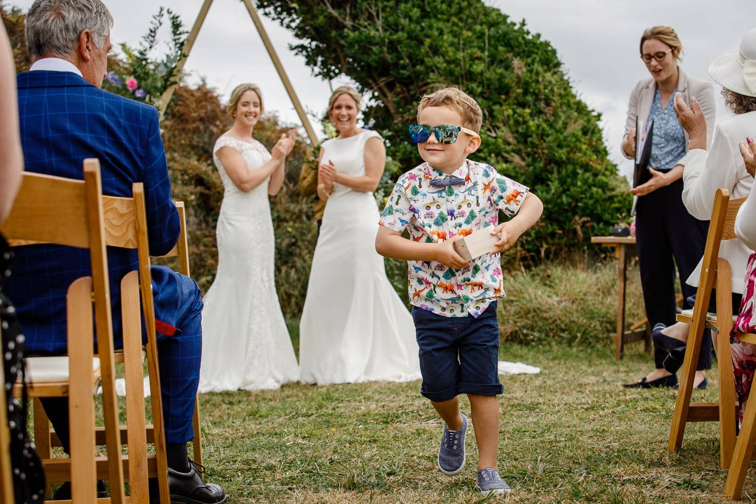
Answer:
POLYGON ((36 0, 26 15, 26 47, 32 60, 67 59, 88 29, 98 49, 113 26, 113 16, 101 0, 36 0))

